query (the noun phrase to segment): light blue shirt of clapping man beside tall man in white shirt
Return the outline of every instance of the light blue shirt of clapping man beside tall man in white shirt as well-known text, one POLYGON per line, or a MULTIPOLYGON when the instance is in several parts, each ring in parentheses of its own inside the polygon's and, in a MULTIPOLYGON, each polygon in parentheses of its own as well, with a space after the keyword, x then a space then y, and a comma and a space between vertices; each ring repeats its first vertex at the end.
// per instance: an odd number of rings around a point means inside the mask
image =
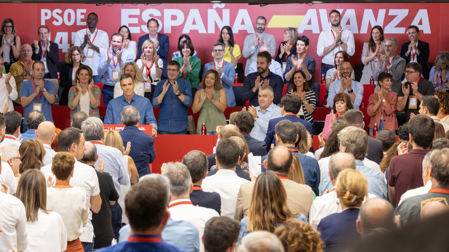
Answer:
MULTIPOLYGON (((112 48, 110 48, 110 50, 112 50, 112 48)), ((117 55, 115 55, 114 52, 112 52, 112 58, 114 60, 111 60, 109 62, 109 64, 106 63, 106 61, 108 60, 108 50, 103 50, 100 53, 100 64, 98 65, 98 75, 105 75, 103 80, 101 80, 101 83, 103 83, 103 85, 108 85, 108 86, 115 86, 115 84, 117 83, 116 81, 112 81, 112 70, 118 70, 120 71, 120 69, 122 69, 122 66, 126 63, 126 62, 132 62, 134 61, 134 56, 132 55, 131 51, 127 50, 127 49, 123 49, 122 52, 122 62, 121 63, 117 63, 117 55), (117 64, 116 66, 114 66, 114 62, 117 64)), ((119 76, 120 78, 120 76, 119 76)))

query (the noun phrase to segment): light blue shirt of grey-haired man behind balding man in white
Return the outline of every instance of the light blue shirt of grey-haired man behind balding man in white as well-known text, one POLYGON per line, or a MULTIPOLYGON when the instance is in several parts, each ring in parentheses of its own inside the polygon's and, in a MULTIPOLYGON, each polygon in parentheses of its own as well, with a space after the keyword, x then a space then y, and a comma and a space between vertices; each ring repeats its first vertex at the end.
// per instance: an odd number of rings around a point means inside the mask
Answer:
MULTIPOLYGON (((376 195, 376 197, 387 199, 387 183, 385 182, 383 173, 365 166, 361 160, 356 160, 356 164, 357 171, 365 174, 366 180, 368 181, 368 192, 376 195)), ((328 171, 329 169, 326 169, 321 172, 320 195, 325 190, 332 190, 334 188, 330 182, 328 171)))

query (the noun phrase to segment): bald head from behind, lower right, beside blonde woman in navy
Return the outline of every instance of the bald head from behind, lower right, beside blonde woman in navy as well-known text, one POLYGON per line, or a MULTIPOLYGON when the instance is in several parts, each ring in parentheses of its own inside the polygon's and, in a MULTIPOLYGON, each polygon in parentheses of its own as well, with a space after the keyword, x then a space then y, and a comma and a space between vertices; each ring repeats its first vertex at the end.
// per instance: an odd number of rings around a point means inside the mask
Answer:
POLYGON ((367 200, 360 208, 356 227, 362 237, 370 234, 374 229, 395 230, 392 204, 380 198, 367 200))

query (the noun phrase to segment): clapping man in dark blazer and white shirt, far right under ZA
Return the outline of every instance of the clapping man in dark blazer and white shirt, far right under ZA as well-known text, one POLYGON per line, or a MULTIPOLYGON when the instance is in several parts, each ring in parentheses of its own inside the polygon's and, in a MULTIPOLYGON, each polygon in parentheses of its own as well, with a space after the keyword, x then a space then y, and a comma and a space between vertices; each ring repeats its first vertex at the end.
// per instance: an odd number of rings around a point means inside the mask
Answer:
MULTIPOLYGON (((410 41, 402 44, 401 57, 405 59, 408 64, 410 62, 417 62, 423 68, 422 75, 424 79, 429 80, 429 69, 427 69, 427 60, 429 60, 429 43, 418 40, 419 28, 417 26, 409 26, 407 31, 410 41)), ((402 76, 401 79, 404 79, 402 76)))

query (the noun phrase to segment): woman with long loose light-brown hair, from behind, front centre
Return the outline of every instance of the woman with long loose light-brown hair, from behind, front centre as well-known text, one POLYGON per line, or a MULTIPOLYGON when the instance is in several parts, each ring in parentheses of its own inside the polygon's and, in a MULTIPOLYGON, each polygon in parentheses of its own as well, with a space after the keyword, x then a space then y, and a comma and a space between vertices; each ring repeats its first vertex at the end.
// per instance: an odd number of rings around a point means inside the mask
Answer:
POLYGON ((274 172, 262 172, 257 177, 248 211, 248 216, 241 221, 239 242, 243 236, 253 231, 264 230, 273 233, 278 226, 291 218, 307 223, 304 214, 292 212, 288 208, 285 188, 274 172))

